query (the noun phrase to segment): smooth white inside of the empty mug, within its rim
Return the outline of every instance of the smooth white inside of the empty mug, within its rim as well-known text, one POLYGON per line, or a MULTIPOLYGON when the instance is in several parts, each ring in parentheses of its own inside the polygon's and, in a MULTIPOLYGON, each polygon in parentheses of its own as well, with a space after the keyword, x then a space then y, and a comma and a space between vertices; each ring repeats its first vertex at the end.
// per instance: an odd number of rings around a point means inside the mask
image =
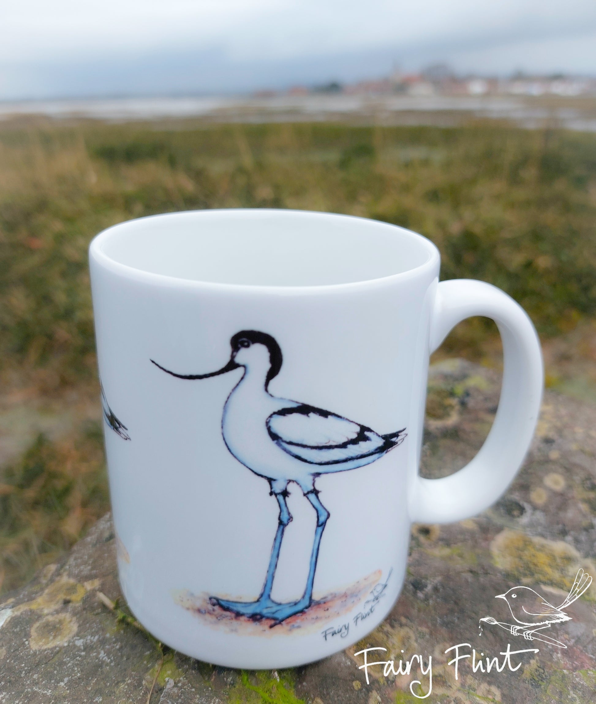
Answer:
POLYGON ((217 284, 329 286, 381 279, 438 258, 386 222, 300 210, 196 210, 129 220, 91 244, 150 274, 217 284))

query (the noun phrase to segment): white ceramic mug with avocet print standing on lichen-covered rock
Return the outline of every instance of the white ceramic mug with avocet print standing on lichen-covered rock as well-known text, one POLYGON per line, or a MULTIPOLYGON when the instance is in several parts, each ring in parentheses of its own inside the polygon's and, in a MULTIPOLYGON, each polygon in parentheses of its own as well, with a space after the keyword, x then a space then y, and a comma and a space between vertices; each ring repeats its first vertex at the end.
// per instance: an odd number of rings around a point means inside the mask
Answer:
POLYGON ((383 222, 204 210, 91 243, 120 582, 160 641, 229 667, 324 658, 387 615, 412 521, 505 491, 543 388, 535 330, 486 283, 383 222), (418 474, 430 353, 471 315, 505 353, 493 428, 418 474))

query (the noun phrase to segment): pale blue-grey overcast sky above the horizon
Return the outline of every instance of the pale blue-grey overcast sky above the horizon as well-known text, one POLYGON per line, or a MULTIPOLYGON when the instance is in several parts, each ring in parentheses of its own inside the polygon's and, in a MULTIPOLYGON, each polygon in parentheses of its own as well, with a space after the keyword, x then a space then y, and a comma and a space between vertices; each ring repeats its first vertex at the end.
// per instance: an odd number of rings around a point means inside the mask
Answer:
POLYGON ((0 0, 0 99, 596 74, 596 0, 0 0))

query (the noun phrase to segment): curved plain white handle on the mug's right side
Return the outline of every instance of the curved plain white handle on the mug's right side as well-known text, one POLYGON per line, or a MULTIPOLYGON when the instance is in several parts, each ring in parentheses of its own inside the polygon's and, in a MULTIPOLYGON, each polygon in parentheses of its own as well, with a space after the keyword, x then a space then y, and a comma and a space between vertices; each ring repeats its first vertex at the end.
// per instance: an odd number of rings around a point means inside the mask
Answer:
POLYGON ((470 463, 442 479, 417 477, 412 521, 448 523, 476 515, 497 501, 512 482, 530 447, 543 393, 543 358, 530 318, 495 286, 471 279, 438 284, 431 314, 430 351, 465 318, 484 315, 499 328, 503 379, 497 415, 470 463))

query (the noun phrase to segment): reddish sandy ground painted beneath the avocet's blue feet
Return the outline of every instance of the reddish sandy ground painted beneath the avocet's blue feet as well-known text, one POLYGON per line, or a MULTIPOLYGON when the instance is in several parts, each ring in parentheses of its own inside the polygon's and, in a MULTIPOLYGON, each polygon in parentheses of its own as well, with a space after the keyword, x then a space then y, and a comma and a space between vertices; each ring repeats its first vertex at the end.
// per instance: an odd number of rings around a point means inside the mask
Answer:
MULTIPOLYGON (((359 579, 338 591, 332 591, 319 599, 315 599, 309 608, 286 619, 284 622, 273 625, 272 619, 253 621, 246 616, 239 616, 222 609, 219 605, 210 602, 210 595, 203 592, 195 595, 184 589, 173 591, 174 601, 188 609, 210 627, 224 628, 229 633, 246 636, 274 636, 279 633, 291 633, 300 629, 308 632, 319 629, 321 624, 336 619, 351 611, 367 594, 374 589, 381 579, 381 570, 372 572, 368 577, 359 579)), ((225 598, 229 598, 226 596, 225 598)), ((248 600, 247 600, 248 601, 248 600)))

